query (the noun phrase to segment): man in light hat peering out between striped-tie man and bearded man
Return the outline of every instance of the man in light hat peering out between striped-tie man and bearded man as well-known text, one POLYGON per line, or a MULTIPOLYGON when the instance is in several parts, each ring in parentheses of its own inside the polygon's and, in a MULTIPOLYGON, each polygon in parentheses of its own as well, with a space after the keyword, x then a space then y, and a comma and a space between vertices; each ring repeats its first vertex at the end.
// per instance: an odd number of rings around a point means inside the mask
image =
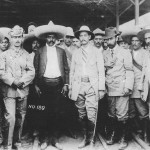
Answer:
POLYGON ((95 35, 93 39, 95 47, 97 47, 101 52, 103 52, 102 41, 105 32, 97 28, 93 31, 93 33, 95 35))

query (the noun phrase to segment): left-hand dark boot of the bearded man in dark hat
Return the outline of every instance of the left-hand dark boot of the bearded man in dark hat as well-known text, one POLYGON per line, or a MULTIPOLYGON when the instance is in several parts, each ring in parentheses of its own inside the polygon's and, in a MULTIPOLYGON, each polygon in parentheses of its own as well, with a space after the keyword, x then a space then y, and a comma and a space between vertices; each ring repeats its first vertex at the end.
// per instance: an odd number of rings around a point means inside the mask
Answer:
POLYGON ((108 145, 112 145, 115 142, 115 125, 116 125, 116 119, 115 118, 109 118, 110 119, 110 124, 107 127, 108 130, 108 139, 106 141, 106 143, 108 145))

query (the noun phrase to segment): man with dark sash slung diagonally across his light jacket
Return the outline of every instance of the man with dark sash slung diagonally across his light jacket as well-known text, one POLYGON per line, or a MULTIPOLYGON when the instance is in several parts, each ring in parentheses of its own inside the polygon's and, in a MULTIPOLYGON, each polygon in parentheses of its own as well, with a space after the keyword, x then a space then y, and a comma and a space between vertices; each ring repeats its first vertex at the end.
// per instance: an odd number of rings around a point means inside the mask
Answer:
MULTIPOLYGON (((134 120, 135 116, 137 116, 140 119, 140 126, 142 128, 141 137, 145 142, 147 142, 148 105, 141 99, 141 93, 138 90, 138 87, 142 77, 142 66, 148 53, 142 47, 142 41, 137 35, 134 35, 131 38, 131 49, 134 70, 134 87, 130 99, 129 117, 132 120, 134 120)), ((132 122, 133 121, 131 121, 131 123, 132 122)))

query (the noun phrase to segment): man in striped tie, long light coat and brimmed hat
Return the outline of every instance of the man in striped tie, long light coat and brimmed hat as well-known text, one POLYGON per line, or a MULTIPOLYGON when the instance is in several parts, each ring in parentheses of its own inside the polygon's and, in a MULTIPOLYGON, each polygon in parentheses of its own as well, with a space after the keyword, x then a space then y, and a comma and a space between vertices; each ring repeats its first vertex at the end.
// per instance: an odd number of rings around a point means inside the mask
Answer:
POLYGON ((85 136, 79 148, 84 148, 94 142, 98 100, 105 91, 105 72, 102 53, 90 43, 94 34, 89 27, 82 26, 75 36, 81 41, 81 47, 72 57, 69 97, 78 108, 85 136))

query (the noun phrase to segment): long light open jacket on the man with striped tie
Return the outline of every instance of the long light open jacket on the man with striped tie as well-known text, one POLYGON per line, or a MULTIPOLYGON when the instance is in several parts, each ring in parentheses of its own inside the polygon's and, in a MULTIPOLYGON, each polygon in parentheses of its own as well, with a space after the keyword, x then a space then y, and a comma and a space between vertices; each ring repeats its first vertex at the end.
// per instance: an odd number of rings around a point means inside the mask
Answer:
MULTIPOLYGON (((89 45, 89 53, 86 62, 86 69, 90 79, 90 83, 95 91, 96 99, 99 99, 98 91, 105 90, 105 71, 103 55, 98 49, 89 45)), ((72 100, 77 100, 79 90, 81 87, 82 77, 82 49, 76 50, 72 56, 70 68, 70 90, 72 91, 72 100)))

